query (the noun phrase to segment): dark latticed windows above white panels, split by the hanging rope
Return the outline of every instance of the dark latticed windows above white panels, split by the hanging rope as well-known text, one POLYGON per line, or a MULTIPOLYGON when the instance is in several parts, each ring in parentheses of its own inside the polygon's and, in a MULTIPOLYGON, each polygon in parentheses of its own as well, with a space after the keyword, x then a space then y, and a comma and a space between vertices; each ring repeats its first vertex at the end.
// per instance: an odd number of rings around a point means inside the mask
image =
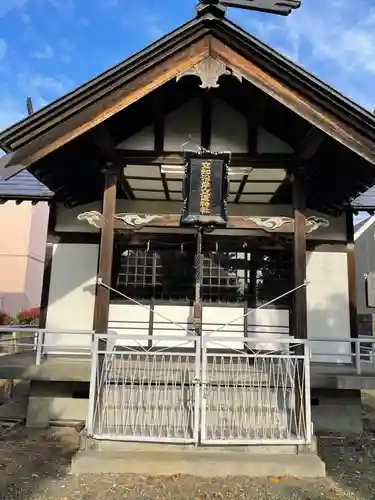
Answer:
MULTIPOLYGON (((287 250, 204 250, 202 300, 257 307, 293 288, 292 263, 287 250)), ((114 284, 135 300, 190 303, 195 294, 194 250, 123 249, 114 284)), ((290 307, 291 299, 289 295, 274 305, 290 307)))

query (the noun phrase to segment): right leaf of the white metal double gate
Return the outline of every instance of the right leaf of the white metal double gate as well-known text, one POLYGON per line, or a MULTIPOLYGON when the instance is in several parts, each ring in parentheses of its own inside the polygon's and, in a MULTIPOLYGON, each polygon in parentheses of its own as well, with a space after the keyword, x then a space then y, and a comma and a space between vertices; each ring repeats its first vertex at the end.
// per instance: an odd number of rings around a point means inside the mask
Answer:
POLYGON ((310 351, 293 339, 202 339, 202 443, 280 444, 311 441, 310 351))

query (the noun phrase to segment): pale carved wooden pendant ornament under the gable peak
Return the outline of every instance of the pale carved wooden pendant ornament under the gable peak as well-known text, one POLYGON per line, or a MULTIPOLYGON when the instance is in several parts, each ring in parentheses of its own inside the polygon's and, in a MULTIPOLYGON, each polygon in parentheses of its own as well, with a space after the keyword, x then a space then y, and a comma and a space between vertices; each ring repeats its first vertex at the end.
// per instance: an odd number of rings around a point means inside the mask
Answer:
POLYGON ((181 78, 188 75, 198 76, 201 80, 200 88, 202 89, 215 89, 219 87, 219 78, 223 75, 232 75, 242 82, 242 75, 228 69, 223 62, 211 56, 178 75, 176 81, 178 82, 181 78))

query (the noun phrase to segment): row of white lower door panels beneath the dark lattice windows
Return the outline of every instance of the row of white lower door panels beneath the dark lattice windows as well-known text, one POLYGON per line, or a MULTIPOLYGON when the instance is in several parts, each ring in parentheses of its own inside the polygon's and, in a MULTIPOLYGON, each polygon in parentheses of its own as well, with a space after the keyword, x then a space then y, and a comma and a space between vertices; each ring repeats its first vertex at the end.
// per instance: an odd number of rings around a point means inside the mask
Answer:
MULTIPOLYGON (((244 309, 242 307, 203 306, 203 335, 212 338, 207 343, 209 349, 227 350, 244 348, 244 309), (227 323, 233 321, 221 331, 227 323), (228 340, 230 338, 230 340, 228 340), (238 340, 236 340, 236 338, 238 340), (232 340, 233 339, 233 340, 232 340)), ((122 347, 147 347, 150 311, 135 304, 110 304, 108 330, 115 334, 113 345, 122 347), (118 336, 116 338, 116 335, 118 336), (123 338, 121 338, 121 336, 123 338)), ((288 338, 289 312, 278 309, 257 311, 249 322, 248 337, 255 339, 249 347, 257 350, 282 348, 279 338, 288 338), (261 341, 257 341, 257 339, 261 341)), ((193 310, 184 305, 155 305, 153 336, 171 337, 157 339, 154 347, 191 348, 193 343, 184 338, 193 333, 193 310), (172 339, 177 337, 177 340, 172 339)))

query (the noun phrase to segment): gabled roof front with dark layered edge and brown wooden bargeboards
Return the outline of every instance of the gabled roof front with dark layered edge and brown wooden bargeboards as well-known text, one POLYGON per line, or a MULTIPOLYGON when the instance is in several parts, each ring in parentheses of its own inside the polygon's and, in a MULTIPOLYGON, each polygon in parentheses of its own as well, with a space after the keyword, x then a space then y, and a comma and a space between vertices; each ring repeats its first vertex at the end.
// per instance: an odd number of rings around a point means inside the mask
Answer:
MULTIPOLYGON (((375 117, 231 21, 207 12, 0 134, 10 178, 99 126, 206 57, 215 57, 309 122, 363 167, 348 200, 375 183, 375 117)), ((336 153, 336 152, 335 152, 336 153)), ((339 154, 339 160, 342 155, 339 154)), ((46 168, 46 167, 43 167, 46 168)), ((53 166, 49 166, 53 168, 53 166)), ((358 174, 358 175, 357 175, 358 174)), ((47 182, 48 185, 48 182, 47 182)), ((350 191, 350 192, 349 192, 350 191)), ((285 196, 285 194, 284 194, 285 196)), ((340 206, 343 200, 335 200, 340 206)), ((285 198, 280 197, 283 202, 285 198)))

